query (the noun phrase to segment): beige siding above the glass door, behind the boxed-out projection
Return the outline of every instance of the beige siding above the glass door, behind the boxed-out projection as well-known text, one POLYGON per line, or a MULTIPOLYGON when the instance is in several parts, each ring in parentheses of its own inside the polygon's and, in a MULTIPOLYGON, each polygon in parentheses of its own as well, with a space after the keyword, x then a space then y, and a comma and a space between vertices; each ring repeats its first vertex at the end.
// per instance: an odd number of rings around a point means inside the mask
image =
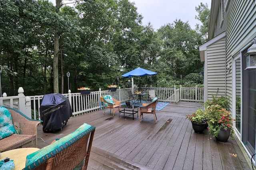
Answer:
MULTIPOLYGON (((250 45, 250 39, 256 37, 255 6, 256 3, 253 1, 230 0, 226 10, 223 11, 223 20, 220 15, 221 8, 218 8, 214 36, 226 32, 226 68, 228 64, 230 64, 230 69, 232 68, 232 58, 250 45)), ((232 70, 225 74, 225 91, 226 96, 230 99, 230 110, 232 110, 232 70)))

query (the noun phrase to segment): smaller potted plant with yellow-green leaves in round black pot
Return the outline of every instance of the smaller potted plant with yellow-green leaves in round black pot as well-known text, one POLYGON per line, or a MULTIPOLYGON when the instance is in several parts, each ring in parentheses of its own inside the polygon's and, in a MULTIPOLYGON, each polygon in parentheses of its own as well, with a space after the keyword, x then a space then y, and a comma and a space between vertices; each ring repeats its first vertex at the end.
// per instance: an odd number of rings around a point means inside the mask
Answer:
POLYGON ((191 121, 195 133, 202 133, 204 131, 206 121, 204 121, 205 115, 203 109, 199 108, 191 115, 186 115, 187 118, 191 121))

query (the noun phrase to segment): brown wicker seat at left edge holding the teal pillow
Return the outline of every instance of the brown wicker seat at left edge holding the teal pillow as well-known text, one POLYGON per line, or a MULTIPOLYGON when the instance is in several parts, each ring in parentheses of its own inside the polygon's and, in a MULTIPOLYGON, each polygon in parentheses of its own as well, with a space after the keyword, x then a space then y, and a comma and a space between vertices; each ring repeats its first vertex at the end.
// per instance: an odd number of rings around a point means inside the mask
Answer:
POLYGON ((37 147, 37 126, 40 120, 33 120, 11 107, 2 106, 11 113, 12 123, 17 131, 9 137, 0 140, 0 152, 17 148, 37 147))

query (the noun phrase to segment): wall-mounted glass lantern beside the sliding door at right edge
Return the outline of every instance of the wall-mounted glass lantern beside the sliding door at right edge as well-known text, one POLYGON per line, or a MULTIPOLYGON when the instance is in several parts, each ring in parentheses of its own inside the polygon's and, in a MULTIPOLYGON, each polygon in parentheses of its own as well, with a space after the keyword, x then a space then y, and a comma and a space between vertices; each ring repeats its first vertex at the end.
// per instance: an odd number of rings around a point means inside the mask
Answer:
POLYGON ((248 48, 247 53, 244 55, 246 57, 246 69, 256 68, 256 38, 250 39, 252 46, 248 48))

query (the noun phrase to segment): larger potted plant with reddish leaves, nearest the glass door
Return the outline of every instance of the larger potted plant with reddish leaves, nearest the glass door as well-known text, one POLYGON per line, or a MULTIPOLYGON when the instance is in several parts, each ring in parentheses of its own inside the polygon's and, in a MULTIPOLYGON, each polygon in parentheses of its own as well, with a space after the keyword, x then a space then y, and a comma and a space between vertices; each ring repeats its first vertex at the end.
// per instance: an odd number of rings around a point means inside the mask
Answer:
POLYGON ((226 142, 231 137, 234 140, 232 128, 235 119, 232 119, 231 114, 220 105, 208 106, 205 110, 207 116, 208 130, 213 137, 218 141, 226 142))

